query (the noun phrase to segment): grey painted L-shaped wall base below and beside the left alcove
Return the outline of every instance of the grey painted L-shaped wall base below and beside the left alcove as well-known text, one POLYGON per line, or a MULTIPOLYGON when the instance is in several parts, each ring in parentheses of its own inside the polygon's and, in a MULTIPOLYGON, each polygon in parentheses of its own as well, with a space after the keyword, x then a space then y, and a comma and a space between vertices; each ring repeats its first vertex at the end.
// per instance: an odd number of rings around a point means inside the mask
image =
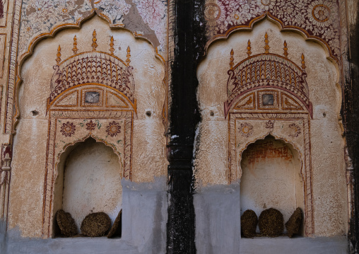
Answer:
POLYGON ((166 179, 154 183, 122 180, 122 238, 22 238, 18 229, 5 232, 0 221, 0 253, 126 253, 160 254, 166 251, 166 179))

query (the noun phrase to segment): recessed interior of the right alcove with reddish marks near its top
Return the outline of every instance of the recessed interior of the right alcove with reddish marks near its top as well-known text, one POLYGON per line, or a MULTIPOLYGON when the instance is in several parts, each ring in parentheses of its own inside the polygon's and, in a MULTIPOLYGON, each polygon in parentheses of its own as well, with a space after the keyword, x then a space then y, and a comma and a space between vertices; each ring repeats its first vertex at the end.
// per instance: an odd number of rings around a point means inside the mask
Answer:
MULTIPOLYGON (((300 236, 304 236, 304 183, 298 151, 291 144, 268 135, 247 146, 240 166, 241 215, 252 209, 259 217, 265 209, 275 208, 283 214, 285 224, 300 207, 303 213, 300 236)), ((285 226, 283 233, 287 233, 285 226)))

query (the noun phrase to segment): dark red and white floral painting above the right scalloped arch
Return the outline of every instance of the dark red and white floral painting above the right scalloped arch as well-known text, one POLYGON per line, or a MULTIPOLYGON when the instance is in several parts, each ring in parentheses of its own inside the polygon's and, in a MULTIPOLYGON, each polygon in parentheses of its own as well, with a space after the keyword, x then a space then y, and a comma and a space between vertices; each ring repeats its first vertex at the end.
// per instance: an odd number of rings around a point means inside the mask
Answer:
POLYGON ((248 27, 268 14, 285 28, 297 28, 316 37, 339 61, 339 3, 337 0, 206 0, 204 16, 208 40, 235 27, 248 27))

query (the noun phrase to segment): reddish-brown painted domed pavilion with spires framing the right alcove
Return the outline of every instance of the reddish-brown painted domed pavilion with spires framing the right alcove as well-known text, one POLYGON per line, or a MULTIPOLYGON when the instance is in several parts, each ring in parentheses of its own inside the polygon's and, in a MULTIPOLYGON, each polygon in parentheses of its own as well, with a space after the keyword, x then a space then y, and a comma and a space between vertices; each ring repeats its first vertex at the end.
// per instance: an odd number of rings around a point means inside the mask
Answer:
MULTIPOLYGON (((310 236, 314 233, 310 162, 312 103, 305 81, 305 58, 302 55, 302 67, 287 59, 286 42, 284 57, 269 53, 267 35, 264 50, 263 54, 251 57, 249 41, 248 57, 238 64, 234 63, 233 50, 230 54, 228 98, 224 104, 229 131, 228 182, 240 180, 241 156, 249 144, 269 134, 292 144, 302 163, 305 234, 310 236)), ((272 155, 286 156, 279 150, 273 150, 272 155)))

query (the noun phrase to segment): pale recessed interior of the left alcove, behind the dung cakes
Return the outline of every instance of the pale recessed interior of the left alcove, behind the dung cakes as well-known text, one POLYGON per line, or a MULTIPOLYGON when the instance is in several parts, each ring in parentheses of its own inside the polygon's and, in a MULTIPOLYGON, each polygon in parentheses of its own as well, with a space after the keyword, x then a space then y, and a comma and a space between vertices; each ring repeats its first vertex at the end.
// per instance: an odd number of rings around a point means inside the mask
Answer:
POLYGON ((122 166, 110 146, 88 138, 69 146, 60 156, 54 185, 52 237, 59 236, 56 212, 73 217, 78 233, 86 215, 105 212, 113 224, 122 209, 122 166))

